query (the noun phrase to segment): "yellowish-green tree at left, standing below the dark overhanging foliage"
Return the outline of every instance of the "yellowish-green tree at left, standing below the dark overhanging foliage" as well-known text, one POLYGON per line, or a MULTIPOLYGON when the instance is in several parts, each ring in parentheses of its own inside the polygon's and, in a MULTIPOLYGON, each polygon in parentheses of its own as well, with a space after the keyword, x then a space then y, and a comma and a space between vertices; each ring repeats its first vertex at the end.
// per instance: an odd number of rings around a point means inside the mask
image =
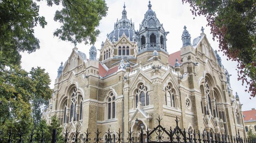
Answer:
MULTIPOLYGON (((4 63, 0 51, 0 63, 4 63)), ((48 100, 52 90, 48 73, 40 67, 28 73, 20 65, 0 64, 0 128, 28 133, 33 127, 30 102, 35 96, 48 100)))

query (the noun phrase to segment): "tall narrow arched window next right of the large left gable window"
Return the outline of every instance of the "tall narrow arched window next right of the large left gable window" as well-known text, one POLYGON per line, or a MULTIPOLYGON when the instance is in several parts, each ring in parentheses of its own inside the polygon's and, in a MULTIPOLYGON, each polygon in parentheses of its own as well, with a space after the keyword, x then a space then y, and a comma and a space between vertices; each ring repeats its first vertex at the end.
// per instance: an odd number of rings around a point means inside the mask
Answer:
POLYGON ((110 93, 109 96, 107 97, 107 102, 108 102, 108 116, 107 119, 114 119, 116 117, 116 104, 115 104, 115 99, 116 97, 114 96, 113 93, 110 93))

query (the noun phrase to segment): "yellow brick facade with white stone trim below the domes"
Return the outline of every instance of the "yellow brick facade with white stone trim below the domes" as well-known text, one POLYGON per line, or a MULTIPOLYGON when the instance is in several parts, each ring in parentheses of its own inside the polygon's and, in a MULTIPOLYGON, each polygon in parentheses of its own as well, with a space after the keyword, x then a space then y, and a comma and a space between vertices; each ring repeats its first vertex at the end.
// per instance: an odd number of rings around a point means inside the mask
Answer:
POLYGON ((162 126, 175 127, 177 116, 182 129, 200 132, 206 129, 232 136, 239 130, 244 137, 239 99, 233 96, 226 70, 218 64, 205 33, 201 33, 196 45, 181 48, 178 67, 168 61, 172 54, 160 50, 158 55, 153 55, 153 50, 137 54, 137 42, 131 41, 125 33, 114 42, 107 38, 98 61, 88 61, 74 48, 55 80, 54 94, 44 113, 47 123, 56 114, 63 131, 71 132, 69 137, 76 129, 94 133, 98 128, 102 137, 108 129, 112 135, 117 135, 120 129, 126 138, 129 129, 134 137, 139 134, 136 119, 144 123, 144 129, 150 130, 158 125, 158 116, 162 126), (115 58, 120 46, 130 47, 133 58, 124 58, 124 62, 127 64, 129 59, 131 67, 100 77, 103 69, 99 65, 108 71, 121 65, 122 56, 115 58), (109 58, 104 60, 104 52, 108 49, 111 50, 109 58), (136 95, 140 98, 142 92, 145 99, 137 99, 136 104, 136 95), (73 111, 70 110, 72 104, 73 111), (74 116, 70 118, 72 112, 76 113, 76 120, 74 116), (237 114, 241 117, 240 125, 235 122, 237 114))

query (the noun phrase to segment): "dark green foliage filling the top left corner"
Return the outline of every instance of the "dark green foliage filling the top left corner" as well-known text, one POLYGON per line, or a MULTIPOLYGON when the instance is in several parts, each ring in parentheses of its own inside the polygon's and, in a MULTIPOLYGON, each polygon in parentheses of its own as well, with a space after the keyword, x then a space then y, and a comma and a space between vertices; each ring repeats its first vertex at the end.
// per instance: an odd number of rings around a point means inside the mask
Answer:
POLYGON ((32 0, 1 0, 0 9, 0 51, 6 61, 19 64, 19 52, 39 49, 33 28, 38 23, 44 28, 47 23, 32 0))

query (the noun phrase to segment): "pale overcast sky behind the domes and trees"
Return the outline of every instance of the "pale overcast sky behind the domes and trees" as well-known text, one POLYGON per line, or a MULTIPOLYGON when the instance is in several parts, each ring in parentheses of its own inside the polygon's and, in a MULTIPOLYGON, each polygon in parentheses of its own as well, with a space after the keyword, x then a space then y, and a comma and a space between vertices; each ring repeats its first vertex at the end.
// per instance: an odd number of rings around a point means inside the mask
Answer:
MULTIPOLYGON (((97 38, 95 47, 100 49, 101 41, 106 40, 106 35, 114 30, 114 23, 117 18, 122 18, 123 3, 125 2, 127 18, 132 19, 135 24, 135 30, 139 29, 139 24, 144 18, 144 14, 148 9, 148 0, 106 0, 109 7, 108 15, 100 21, 101 33, 97 38)), ((49 73, 52 80, 51 88, 54 87, 54 81, 57 77, 57 70, 61 62, 65 62, 70 56, 73 44, 59 40, 57 37, 53 37, 53 31, 60 27, 60 23, 53 20, 56 9, 60 9, 61 6, 49 7, 45 1, 38 3, 40 5, 39 14, 45 17, 47 26, 44 29, 41 27, 35 28, 35 36, 39 39, 40 49, 36 52, 28 54, 22 53, 22 67, 29 71, 32 67, 42 67, 49 73)), ((169 31, 167 35, 167 51, 170 53, 180 50, 182 46, 181 35, 183 27, 186 25, 187 30, 191 35, 191 42, 194 38, 200 36, 201 26, 204 27, 204 33, 208 38, 211 46, 214 50, 218 50, 217 41, 212 40, 210 28, 206 27, 207 21, 205 17, 195 17, 190 12, 188 4, 182 4, 181 0, 151 0, 152 9, 156 12, 156 16, 160 23, 163 23, 165 31, 169 31)), ((78 50, 86 53, 89 58, 90 45, 84 45, 83 43, 77 45, 78 50)), ((99 54, 99 53, 98 53, 99 54)), ((245 93, 245 87, 241 85, 241 81, 237 81, 236 62, 227 61, 226 56, 223 56, 219 52, 222 58, 222 64, 231 74, 231 88, 233 94, 236 92, 239 94, 242 109, 251 110, 255 108, 256 99, 249 99, 249 94, 245 93)), ((99 55, 98 55, 99 56, 99 55)))

